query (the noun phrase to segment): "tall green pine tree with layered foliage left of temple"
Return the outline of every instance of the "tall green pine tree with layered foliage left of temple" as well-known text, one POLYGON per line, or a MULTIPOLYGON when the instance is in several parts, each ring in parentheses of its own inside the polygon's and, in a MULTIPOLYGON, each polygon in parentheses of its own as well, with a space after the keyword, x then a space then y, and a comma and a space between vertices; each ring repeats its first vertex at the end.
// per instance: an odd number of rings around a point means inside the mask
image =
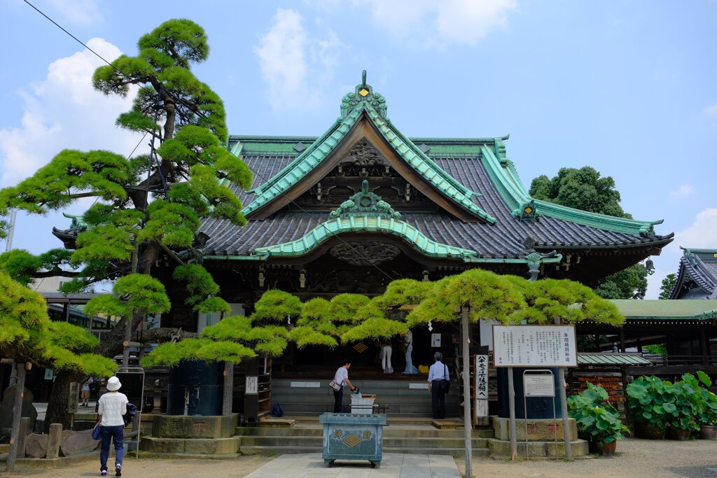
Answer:
MULTIPOLYGON (((158 257, 166 255, 180 266, 175 277, 186 282, 194 310, 228 312, 211 276, 192 264, 194 244, 203 217, 245 224, 242 204, 229 183, 248 188, 252 174, 224 147, 228 136, 221 98, 191 72, 191 65, 208 54, 204 30, 193 21, 173 19, 143 35, 136 56, 122 55, 95 70, 96 90, 135 94, 133 107, 116 124, 150 135, 156 149, 130 159, 107 150, 62 150, 29 178, 0 190, 1 214, 9 209, 46 214, 95 198, 82 216, 71 254, 13 252, 0 258, 0 267, 23 282, 62 270, 73 278, 61 287, 63 292, 123 277, 128 277, 123 287, 138 292, 158 257)), ((124 317, 97 348, 105 356, 118 353, 125 330, 136 330, 146 310, 127 308, 115 299, 103 299, 97 307, 116 307, 124 317), (129 328, 125 321, 131 321, 129 328)), ((62 388, 56 389, 58 400, 67 398, 62 388)), ((47 418, 69 424, 52 403, 47 418)))

